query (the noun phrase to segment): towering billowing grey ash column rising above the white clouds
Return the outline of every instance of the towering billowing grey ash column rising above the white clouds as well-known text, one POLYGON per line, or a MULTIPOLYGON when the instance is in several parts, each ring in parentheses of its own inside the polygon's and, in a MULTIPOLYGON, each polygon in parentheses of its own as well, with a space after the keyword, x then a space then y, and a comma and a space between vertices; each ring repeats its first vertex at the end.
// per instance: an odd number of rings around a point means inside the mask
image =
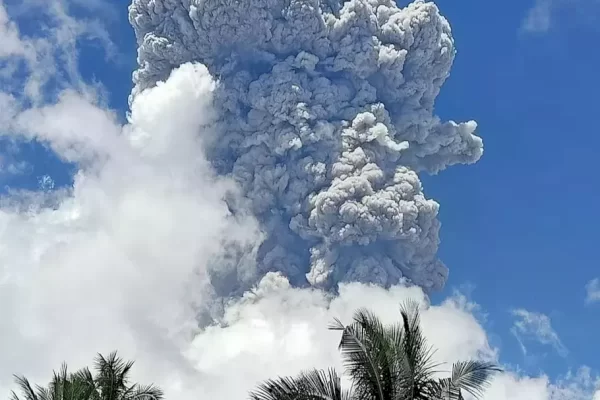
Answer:
POLYGON ((455 55, 433 3, 133 0, 129 18, 132 96, 186 62, 219 81, 208 157, 239 183, 266 239, 251 278, 239 262, 214 268, 218 292, 273 270, 325 288, 443 286, 439 205, 417 172, 473 163, 483 145, 475 122, 433 115, 455 55))

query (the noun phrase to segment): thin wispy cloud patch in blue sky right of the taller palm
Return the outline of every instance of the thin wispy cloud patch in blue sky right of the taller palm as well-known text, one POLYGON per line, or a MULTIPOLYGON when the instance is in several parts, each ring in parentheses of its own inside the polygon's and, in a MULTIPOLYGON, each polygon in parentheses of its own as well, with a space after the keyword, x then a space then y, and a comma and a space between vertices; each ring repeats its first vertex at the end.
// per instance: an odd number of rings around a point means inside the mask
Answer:
POLYGON ((516 320, 511 332, 519 341, 524 354, 527 354, 526 341, 534 340, 552 346, 561 356, 567 355, 568 350, 552 328, 550 317, 524 309, 513 310, 512 314, 516 320))

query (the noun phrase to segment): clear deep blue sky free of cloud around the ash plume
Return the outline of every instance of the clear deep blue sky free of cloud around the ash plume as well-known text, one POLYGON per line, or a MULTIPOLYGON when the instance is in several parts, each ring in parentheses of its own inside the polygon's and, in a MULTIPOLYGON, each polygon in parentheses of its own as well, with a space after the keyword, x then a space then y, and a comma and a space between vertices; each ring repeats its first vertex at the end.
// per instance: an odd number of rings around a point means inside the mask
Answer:
MULTIPOLYGON (((126 7, 111 1, 116 12, 101 15, 116 52, 107 57, 88 43, 79 62, 83 78, 100 81, 124 118, 136 46, 126 7)), ((442 119, 476 120, 485 153, 475 165, 422 176, 426 194, 442 205, 440 255, 450 268, 434 301, 467 293, 503 362, 552 376, 600 369, 600 303, 585 301, 586 284, 600 275, 600 29, 586 19, 600 7, 576 3, 587 12, 563 12, 561 0, 437 1, 458 55, 436 110, 442 119), (538 335, 524 342, 524 355, 512 333, 516 309, 548 316, 562 345, 538 335)), ((39 146, 2 151, 29 164, 23 174, 4 174, 2 186, 32 188, 46 174, 57 186, 71 183, 73 168, 39 146)))

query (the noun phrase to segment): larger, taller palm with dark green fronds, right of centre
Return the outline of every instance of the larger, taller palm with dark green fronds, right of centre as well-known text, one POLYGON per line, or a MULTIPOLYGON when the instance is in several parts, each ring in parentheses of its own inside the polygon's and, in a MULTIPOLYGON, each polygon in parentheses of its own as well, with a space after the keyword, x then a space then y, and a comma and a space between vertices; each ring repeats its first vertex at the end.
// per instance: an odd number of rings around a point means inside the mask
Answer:
POLYGON ((252 400, 464 400, 463 392, 480 398, 500 369, 481 361, 458 362, 449 378, 435 379, 439 364, 420 325, 419 306, 400 307, 400 323, 385 326, 366 309, 345 326, 335 320, 329 329, 342 332, 339 349, 352 387, 343 390, 334 370, 311 370, 297 377, 279 377, 260 384, 252 400))

